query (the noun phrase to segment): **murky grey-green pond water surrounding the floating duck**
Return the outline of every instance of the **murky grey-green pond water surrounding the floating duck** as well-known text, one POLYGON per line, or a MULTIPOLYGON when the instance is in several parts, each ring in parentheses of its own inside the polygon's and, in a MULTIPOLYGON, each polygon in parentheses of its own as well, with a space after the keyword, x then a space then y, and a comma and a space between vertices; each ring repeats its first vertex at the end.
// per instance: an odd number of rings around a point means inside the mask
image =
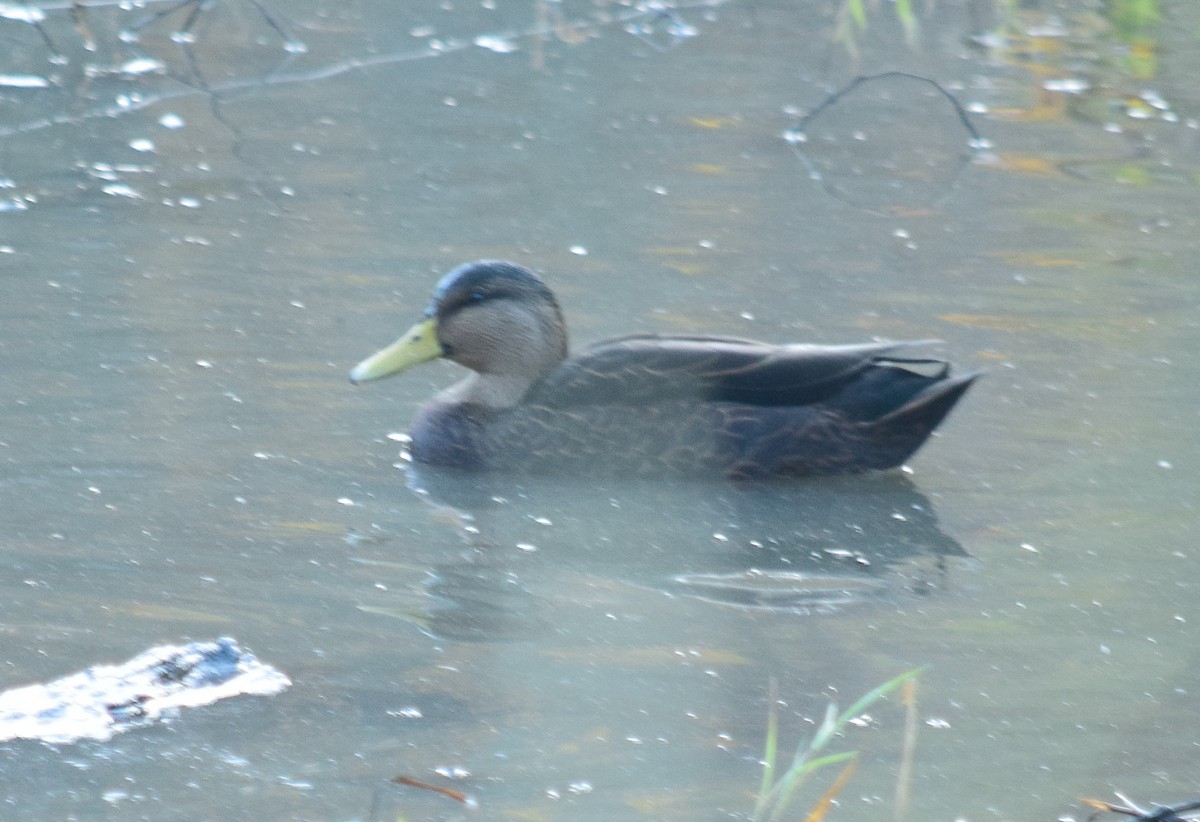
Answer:
MULTIPOLYGON (((295 54, 240 0, 188 52, 184 11, 134 46, 94 8, 88 52, 50 8, 65 62, 0 20, 0 686, 221 635, 294 682, 0 745, 5 818, 749 818, 769 679, 786 749, 924 664, 911 818, 1192 797, 1200 19, 1134 78, 1098 17, 986 52, 949 4, 919 49, 871 12, 854 66, 827 6, 271 4, 295 54), (782 138, 895 68, 990 152, 902 79, 782 138), (388 434, 454 367, 346 373, 480 257, 581 342, 938 337, 988 376, 911 474, 412 474, 388 434)), ((870 713, 835 818, 892 815, 870 713)))

